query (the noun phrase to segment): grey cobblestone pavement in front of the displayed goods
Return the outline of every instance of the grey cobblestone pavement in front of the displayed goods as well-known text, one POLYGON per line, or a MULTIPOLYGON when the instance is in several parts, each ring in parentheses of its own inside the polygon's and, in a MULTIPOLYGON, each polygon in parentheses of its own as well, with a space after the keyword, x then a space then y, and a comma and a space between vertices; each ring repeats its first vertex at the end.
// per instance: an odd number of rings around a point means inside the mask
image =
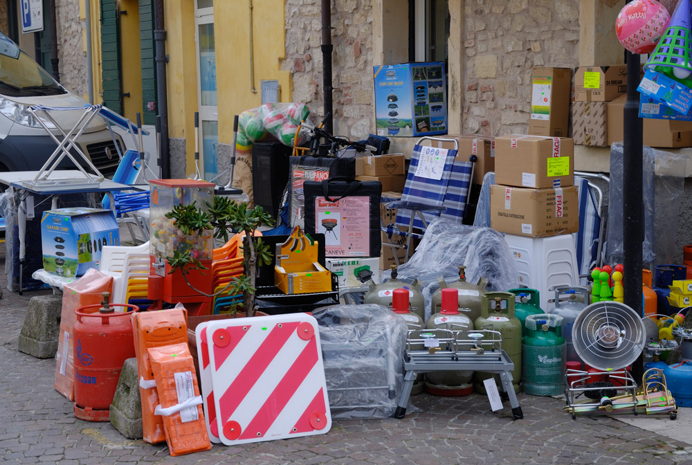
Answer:
MULTIPOLYGON (((0 284, 4 289, 4 275, 0 284)), ((55 361, 17 351, 27 302, 40 293, 46 291, 20 297, 5 289, 0 299, 1 464, 692 465, 692 447, 680 441, 607 417, 573 421, 561 401, 523 394, 525 418, 518 421, 509 405, 491 412, 477 394, 423 394, 413 398, 421 410, 403 420, 334 421, 326 435, 170 457, 165 445, 127 440, 110 423, 75 419, 71 403, 53 390, 55 361)))

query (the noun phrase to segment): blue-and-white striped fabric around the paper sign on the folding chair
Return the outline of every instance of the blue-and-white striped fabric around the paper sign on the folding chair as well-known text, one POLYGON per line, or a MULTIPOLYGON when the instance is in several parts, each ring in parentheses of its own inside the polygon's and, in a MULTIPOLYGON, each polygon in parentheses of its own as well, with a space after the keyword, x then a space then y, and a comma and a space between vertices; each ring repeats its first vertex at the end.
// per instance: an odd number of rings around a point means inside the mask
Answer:
MULTIPOLYGON (((427 149, 429 147, 425 148, 427 149)), ((421 178, 415 174, 419 159, 421 157, 421 151, 423 149, 424 147, 421 145, 416 145, 413 147, 411 163, 408 168, 408 174, 406 175, 406 185, 404 185, 403 194, 401 194, 401 202, 425 204, 440 208, 444 206, 444 200, 449 186, 449 180, 452 175, 452 167, 454 165, 454 158, 457 156, 457 151, 455 149, 448 149, 447 156, 444 161, 444 170, 442 172, 442 176, 439 181, 437 181, 436 179, 421 178)), ((399 212, 397 212, 397 221, 395 221, 394 224, 408 228, 411 214, 412 210, 400 208, 399 212)), ((424 217, 426 221, 429 222, 437 217, 437 213, 424 213, 424 217)), ((413 226, 419 229, 425 228, 423 222, 417 215, 414 217, 413 226)))

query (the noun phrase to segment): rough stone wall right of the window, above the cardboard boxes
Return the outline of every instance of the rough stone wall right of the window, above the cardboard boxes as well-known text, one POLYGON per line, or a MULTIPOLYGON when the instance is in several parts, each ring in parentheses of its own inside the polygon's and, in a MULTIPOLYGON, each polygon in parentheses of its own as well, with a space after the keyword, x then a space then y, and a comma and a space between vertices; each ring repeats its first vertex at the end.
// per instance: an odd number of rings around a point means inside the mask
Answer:
POLYGON ((466 0, 463 131, 529 129, 531 69, 579 65, 579 2, 466 0))

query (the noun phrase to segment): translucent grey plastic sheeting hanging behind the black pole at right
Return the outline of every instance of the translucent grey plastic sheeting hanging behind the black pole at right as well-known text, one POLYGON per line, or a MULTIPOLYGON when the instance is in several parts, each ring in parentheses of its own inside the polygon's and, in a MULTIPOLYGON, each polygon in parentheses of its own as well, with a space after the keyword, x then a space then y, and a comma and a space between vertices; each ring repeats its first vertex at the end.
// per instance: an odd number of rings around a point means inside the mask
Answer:
MULTIPOLYGON (((644 147, 644 244, 642 259, 651 266, 673 263, 677 216, 684 193, 686 156, 644 147)), ((623 147, 610 148, 608 240, 605 262, 622 263, 623 250, 623 147)))

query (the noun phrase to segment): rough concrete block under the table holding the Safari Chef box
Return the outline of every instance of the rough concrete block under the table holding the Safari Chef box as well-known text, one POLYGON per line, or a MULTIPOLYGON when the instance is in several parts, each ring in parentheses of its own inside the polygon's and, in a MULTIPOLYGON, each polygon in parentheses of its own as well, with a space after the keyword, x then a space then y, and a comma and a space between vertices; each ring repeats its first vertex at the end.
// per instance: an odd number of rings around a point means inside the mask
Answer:
POLYGON ((53 358, 60 334, 62 295, 37 295, 29 300, 19 334, 19 352, 53 358))

